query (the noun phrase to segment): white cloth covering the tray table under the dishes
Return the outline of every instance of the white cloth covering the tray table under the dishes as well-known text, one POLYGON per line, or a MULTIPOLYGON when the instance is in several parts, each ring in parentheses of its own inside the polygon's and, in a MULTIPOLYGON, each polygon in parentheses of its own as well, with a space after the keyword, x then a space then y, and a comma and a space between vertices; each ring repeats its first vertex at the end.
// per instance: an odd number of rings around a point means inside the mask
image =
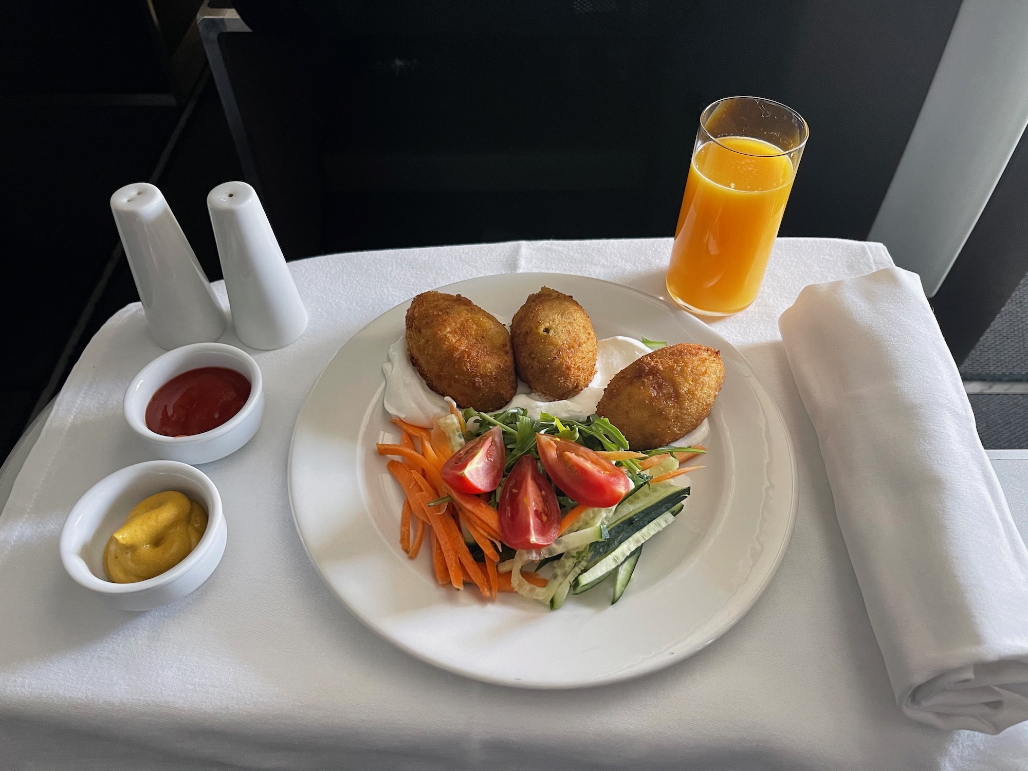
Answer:
POLYGON ((303 397, 339 345, 413 294, 475 276, 574 272, 661 295, 669 249, 666 238, 512 243, 293 263, 310 326, 287 348, 254 354, 264 425, 204 467, 224 501, 224 559, 192 595, 145 614, 107 609, 58 557, 77 497, 147 460, 121 394, 160 351, 139 305, 115 315, 75 366, 0 517, 0 767, 1026 768, 1026 725, 944 732, 893 703, 778 338, 778 315, 802 287, 890 264, 880 245, 779 240, 760 298, 717 324, 785 416, 800 504, 765 595, 696 656, 599 689, 488 686, 382 641, 322 584, 293 527, 286 457, 303 397))

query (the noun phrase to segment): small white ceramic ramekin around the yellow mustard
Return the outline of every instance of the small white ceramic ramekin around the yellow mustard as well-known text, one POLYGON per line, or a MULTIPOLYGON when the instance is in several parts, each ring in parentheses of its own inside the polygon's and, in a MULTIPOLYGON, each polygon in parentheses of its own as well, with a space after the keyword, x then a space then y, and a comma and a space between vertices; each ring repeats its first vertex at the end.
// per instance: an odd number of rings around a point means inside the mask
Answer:
POLYGON ((116 471, 78 500, 61 531, 61 561, 76 583, 122 611, 149 611, 184 597, 207 581, 225 552, 228 529, 221 495, 198 469, 175 461, 147 461, 116 471), (104 548, 128 512, 145 498, 179 490, 207 509, 207 530, 196 548, 159 576, 115 584, 104 573, 104 548))

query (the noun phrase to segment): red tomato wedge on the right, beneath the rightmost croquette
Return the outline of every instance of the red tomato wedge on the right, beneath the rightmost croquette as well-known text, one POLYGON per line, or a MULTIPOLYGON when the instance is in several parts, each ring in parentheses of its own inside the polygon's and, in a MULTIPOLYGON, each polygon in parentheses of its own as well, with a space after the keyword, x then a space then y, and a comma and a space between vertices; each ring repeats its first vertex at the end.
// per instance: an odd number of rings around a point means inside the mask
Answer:
POLYGON ((581 444, 537 434, 536 446, 553 483, 580 504, 616 506, 632 486, 624 471, 581 444))

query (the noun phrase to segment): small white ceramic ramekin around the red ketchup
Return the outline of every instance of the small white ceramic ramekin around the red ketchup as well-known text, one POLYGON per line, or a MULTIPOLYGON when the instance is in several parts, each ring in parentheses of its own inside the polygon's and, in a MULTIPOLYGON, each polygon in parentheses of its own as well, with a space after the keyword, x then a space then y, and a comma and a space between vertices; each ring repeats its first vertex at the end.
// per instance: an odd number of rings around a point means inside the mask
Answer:
POLYGON ((249 442, 264 416, 264 388, 257 362, 245 351, 223 342, 195 342, 169 351, 147 364, 125 391, 125 420, 150 450, 169 461, 206 464, 249 442), (146 428, 146 405, 154 393, 176 375, 198 367, 234 369, 250 380, 250 398, 227 421, 193 436, 163 436, 146 428))

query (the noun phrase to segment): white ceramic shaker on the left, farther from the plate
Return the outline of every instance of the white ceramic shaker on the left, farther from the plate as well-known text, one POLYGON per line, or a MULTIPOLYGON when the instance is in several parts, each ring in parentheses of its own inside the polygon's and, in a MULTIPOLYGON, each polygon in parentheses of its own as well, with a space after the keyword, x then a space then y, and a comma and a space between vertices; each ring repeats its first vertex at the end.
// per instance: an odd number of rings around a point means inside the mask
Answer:
POLYGON ((154 341, 171 351, 221 337, 225 313, 160 190, 125 185, 111 196, 111 212, 154 341))

